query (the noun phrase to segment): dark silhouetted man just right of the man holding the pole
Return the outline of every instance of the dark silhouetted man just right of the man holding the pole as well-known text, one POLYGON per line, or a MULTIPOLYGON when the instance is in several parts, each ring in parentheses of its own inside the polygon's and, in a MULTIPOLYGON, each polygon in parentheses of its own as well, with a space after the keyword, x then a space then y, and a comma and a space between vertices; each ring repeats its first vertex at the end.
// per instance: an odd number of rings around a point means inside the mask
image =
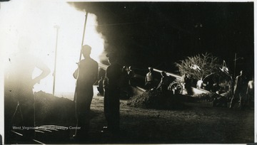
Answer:
POLYGON ((116 134, 120 129, 119 97, 122 68, 121 65, 117 63, 117 58, 114 53, 109 53, 106 56, 110 65, 106 69, 106 78, 104 80, 104 114, 108 129, 116 134))

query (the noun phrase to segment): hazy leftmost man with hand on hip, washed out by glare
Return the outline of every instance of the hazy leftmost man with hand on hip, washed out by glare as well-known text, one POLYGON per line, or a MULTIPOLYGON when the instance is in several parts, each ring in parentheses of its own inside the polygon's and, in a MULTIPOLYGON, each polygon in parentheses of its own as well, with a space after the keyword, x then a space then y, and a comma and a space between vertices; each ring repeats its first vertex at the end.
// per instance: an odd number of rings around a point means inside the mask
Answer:
POLYGON ((9 58, 9 64, 5 70, 4 119, 7 137, 12 125, 32 127, 24 136, 34 137, 33 87, 50 73, 50 69, 39 58, 29 53, 29 46, 30 41, 27 38, 20 38, 19 53, 9 58), (35 68, 39 68, 42 72, 32 78, 35 68), (17 114, 21 117, 19 118, 17 114))

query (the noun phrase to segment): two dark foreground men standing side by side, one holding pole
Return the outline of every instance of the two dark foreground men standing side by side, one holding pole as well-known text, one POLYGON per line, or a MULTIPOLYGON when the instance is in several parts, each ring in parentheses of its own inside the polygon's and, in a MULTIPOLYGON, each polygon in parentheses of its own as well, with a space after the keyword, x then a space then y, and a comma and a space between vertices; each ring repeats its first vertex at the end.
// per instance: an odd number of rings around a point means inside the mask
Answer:
MULTIPOLYGON (((76 116, 77 126, 74 137, 76 139, 85 139, 85 134, 89 131, 90 125, 90 106, 94 95, 93 85, 98 80, 98 63, 90 57, 91 47, 84 45, 81 48, 84 59, 79 62, 79 67, 74 72, 76 78, 76 116)), ((115 53, 106 55, 109 66, 106 68, 106 76, 102 79, 104 84, 104 115, 106 117, 107 126, 103 127, 103 131, 109 130, 113 134, 119 133, 119 95, 122 76, 122 68, 117 63, 115 53)))

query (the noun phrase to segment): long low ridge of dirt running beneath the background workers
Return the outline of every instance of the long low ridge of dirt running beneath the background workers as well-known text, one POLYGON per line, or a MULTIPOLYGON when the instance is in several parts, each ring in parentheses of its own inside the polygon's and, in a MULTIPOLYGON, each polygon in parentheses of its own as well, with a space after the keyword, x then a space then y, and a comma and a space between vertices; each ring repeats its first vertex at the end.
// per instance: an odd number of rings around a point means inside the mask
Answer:
POLYGON ((228 99, 210 92, 198 96, 173 95, 172 92, 163 94, 159 90, 147 90, 143 94, 131 97, 127 104, 131 107, 145 109, 183 109, 188 107, 185 102, 193 104, 212 103, 212 107, 227 107, 228 99))

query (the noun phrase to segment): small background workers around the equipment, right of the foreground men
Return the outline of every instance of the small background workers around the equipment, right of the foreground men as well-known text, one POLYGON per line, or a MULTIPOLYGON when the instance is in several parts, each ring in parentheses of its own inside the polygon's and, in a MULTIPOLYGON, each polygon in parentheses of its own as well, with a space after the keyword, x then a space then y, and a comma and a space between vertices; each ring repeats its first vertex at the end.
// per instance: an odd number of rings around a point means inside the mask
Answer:
MULTIPOLYGON (((154 85, 154 77, 153 77, 153 68, 148 68, 149 72, 145 77, 145 86, 147 90, 151 90, 155 88, 154 85)), ((183 89, 186 89, 188 95, 192 95, 193 92, 191 88, 191 80, 188 79, 188 75, 184 74, 181 77, 181 85, 183 89)), ((168 89, 168 77, 165 72, 161 72, 161 82, 158 84, 158 88, 161 89, 162 92, 166 92, 168 89)), ((231 80, 233 82, 233 80, 231 80)), ((198 81, 197 88, 200 88, 203 80, 198 81)), ((254 81, 253 77, 251 80, 247 82, 246 76, 243 74, 243 70, 241 70, 240 75, 236 76, 235 81, 229 84, 228 95, 231 96, 230 108, 233 108, 236 102, 239 102, 238 107, 244 109, 247 104, 254 102, 254 81)))

